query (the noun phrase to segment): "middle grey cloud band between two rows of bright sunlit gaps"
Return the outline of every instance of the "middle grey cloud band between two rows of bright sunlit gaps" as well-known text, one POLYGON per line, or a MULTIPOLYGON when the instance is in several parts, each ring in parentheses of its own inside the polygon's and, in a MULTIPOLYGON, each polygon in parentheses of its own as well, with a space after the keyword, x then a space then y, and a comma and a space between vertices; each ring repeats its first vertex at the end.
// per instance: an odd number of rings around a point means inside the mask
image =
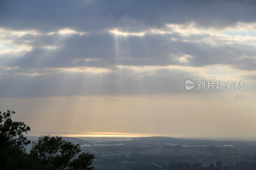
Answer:
MULTIPOLYGON (((58 67, 113 67, 115 65, 189 65, 206 66, 214 64, 232 65, 242 70, 255 70, 254 45, 239 41, 227 44, 218 40, 220 45, 204 42, 212 35, 194 34, 181 36, 179 33, 145 34, 144 36, 115 36, 104 34, 73 34, 61 37, 53 34, 43 36, 24 35, 14 41, 33 47, 22 57, 5 54, 0 63, 21 68, 58 68, 58 67), (177 41, 172 41, 176 38, 177 41), (186 38, 188 42, 183 41, 186 38), (57 49, 40 48, 57 46, 57 49), (116 47, 117 45, 117 47, 116 47), (184 55, 187 63, 178 59, 184 55), (93 60, 86 60, 93 59, 93 60)), ((231 42, 231 41, 230 41, 231 42)))

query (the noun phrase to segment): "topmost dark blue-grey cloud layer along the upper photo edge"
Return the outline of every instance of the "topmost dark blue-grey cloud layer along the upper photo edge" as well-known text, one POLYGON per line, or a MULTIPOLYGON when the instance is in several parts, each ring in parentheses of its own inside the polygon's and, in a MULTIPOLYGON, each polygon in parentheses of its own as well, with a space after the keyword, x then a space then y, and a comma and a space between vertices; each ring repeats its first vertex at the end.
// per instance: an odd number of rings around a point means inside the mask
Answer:
POLYGON ((16 30, 143 30, 194 21, 202 27, 255 22, 255 1, 2 1, 0 25, 16 30))

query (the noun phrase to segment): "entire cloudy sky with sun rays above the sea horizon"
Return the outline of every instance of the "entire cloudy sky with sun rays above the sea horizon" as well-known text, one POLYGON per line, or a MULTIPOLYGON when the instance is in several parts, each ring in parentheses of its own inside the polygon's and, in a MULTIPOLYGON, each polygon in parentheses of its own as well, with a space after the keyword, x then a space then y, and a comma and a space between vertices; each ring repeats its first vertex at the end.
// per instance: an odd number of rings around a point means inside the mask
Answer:
POLYGON ((0 2, 0 111, 33 133, 256 140, 255 83, 255 1, 0 2))

